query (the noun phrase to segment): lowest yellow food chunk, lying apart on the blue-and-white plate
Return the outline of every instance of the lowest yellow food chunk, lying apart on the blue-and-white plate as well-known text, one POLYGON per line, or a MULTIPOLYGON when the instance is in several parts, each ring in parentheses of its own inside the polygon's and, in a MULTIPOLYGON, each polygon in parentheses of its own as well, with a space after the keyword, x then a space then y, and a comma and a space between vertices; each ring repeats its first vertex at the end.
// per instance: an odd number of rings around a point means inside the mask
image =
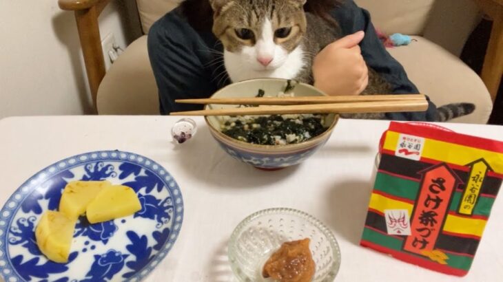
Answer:
POLYGON ((64 213, 48 210, 37 224, 35 238, 40 251, 51 261, 67 263, 76 221, 64 213))

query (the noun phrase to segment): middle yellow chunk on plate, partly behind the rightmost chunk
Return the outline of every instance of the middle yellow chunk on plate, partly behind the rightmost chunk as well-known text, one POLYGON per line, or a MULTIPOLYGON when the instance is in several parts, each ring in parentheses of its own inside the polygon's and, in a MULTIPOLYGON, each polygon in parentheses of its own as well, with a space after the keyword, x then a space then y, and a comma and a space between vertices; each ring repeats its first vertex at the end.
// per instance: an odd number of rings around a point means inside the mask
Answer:
POLYGON ((61 202, 59 202, 59 211, 64 213, 70 219, 77 219, 79 215, 85 213, 88 204, 104 187, 111 186, 107 181, 74 181, 66 185, 61 202))

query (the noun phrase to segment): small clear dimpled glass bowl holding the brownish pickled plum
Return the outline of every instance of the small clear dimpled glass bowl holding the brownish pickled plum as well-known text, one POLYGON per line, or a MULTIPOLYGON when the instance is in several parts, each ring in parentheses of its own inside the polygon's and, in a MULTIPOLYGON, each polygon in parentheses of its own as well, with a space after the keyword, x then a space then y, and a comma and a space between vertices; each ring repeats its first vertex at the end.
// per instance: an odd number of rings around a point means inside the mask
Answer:
POLYGON ((270 208, 240 222, 229 241, 229 261, 240 281, 271 281, 262 276, 263 265, 286 241, 309 238, 316 263, 314 282, 333 281, 340 266, 336 238, 321 221, 300 210, 270 208))

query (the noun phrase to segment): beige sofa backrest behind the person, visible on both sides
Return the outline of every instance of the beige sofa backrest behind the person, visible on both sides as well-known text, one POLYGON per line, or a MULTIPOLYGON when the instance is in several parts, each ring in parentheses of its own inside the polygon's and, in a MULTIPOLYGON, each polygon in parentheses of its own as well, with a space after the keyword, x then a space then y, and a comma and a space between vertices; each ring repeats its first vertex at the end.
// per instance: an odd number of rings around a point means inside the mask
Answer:
MULTIPOLYGON (((183 0, 136 0, 143 32, 183 0)), ((473 0, 355 0, 371 12, 373 24, 387 34, 423 35, 459 56, 480 21, 473 0)))

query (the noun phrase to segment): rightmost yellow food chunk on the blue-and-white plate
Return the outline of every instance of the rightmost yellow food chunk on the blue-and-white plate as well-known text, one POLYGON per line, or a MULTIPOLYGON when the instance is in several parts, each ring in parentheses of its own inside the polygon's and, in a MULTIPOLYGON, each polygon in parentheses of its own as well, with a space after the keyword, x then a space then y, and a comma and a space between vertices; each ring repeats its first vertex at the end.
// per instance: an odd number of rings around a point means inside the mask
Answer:
POLYGON ((134 190, 127 186, 114 185, 103 188, 90 202, 85 214, 90 223, 96 224, 126 217, 138 210, 141 210, 141 204, 134 190))

